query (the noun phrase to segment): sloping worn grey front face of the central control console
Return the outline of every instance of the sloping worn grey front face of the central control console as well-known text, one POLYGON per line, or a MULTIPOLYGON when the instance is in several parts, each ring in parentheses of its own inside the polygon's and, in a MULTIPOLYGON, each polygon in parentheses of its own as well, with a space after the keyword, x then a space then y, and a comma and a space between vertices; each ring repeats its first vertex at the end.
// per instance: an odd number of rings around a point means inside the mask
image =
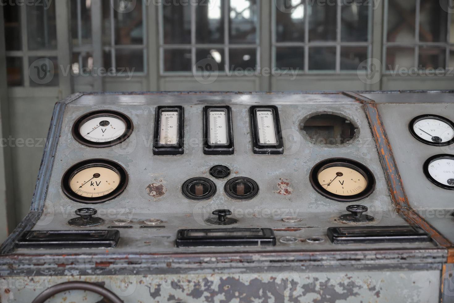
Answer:
MULTIPOLYGON (((109 126, 107 122, 102 124, 102 128, 109 126)), ((97 128, 97 125, 92 128, 97 128)), ((221 136, 222 119, 216 120, 216 125, 216 140, 225 142, 221 136)), ((350 204, 369 208, 365 214, 373 219, 359 222, 360 226, 408 225, 393 211, 363 104, 342 94, 84 95, 67 104, 64 110, 54 159, 44 213, 33 229, 118 229, 120 239, 115 248, 109 248, 111 253, 435 247, 433 243, 339 245, 326 237, 329 227, 358 226, 358 222, 339 219, 342 214, 349 214, 345 207, 350 204), (230 106, 233 154, 204 154, 206 140, 203 138, 202 117, 206 106, 214 109, 212 116, 207 115, 212 124, 219 114, 218 109, 230 106), (105 148, 80 144, 71 134, 74 122, 85 113, 103 109, 128 116, 134 125, 133 132, 124 142, 105 148), (273 134, 277 128, 273 130, 272 123, 264 119, 263 125, 260 124, 264 128, 262 135, 257 139, 281 135, 284 154, 254 153, 251 109, 259 109, 252 110, 258 120, 270 109, 279 114, 281 134, 273 134), (160 114, 157 110, 161 110, 160 114), (175 113, 183 111, 183 121, 180 121, 180 116, 175 118, 175 113), (337 120, 329 118, 332 115, 337 120), (156 117, 165 126, 158 129, 158 136, 155 135, 156 117), (178 132, 183 131, 184 153, 153 154, 156 140, 174 140, 172 134, 178 133, 175 128, 178 132), (89 197, 72 199, 62 190, 62 177, 74 164, 88 159, 97 159, 96 164, 102 164, 104 160, 114 161, 118 167, 107 171, 107 175, 105 168, 94 171, 98 166, 75 169, 76 173, 68 177, 73 181, 70 185, 76 194, 82 187, 84 195, 89 197), (127 173, 127 186, 118 195, 110 197, 109 192, 104 193, 106 189, 116 189, 117 182, 123 181, 124 185, 125 177, 119 173, 121 168, 127 173), (111 178, 108 178, 109 174, 111 178), (312 179, 311 174, 315 176, 312 179), (82 204, 84 199, 91 198, 90 193, 107 196, 106 201, 82 204), (69 223, 70 219, 78 217, 74 214, 77 209, 87 207, 96 209, 94 217, 104 221, 94 222, 97 225, 87 224, 83 219, 69 223), (213 215, 216 210, 216 215, 213 215), (223 214, 226 221, 221 220, 223 214), (82 226, 74 227, 78 224, 82 226), (261 246, 176 247, 178 230, 203 228, 269 228, 276 241, 275 245, 261 246)), ((232 239, 227 237, 223 241, 232 239)), ((257 243, 257 239, 252 242, 257 243)), ((25 248, 15 252, 36 253, 25 248)), ((40 252, 54 251, 42 249, 40 252)), ((71 252, 104 253, 105 249, 72 248, 71 252)))

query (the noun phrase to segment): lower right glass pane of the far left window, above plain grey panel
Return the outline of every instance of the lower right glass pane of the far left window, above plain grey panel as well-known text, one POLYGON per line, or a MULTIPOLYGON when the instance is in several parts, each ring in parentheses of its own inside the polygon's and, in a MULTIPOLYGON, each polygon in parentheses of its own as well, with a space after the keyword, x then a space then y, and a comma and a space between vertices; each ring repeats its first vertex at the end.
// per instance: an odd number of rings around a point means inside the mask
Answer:
POLYGON ((30 86, 58 86, 57 57, 29 57, 30 86))

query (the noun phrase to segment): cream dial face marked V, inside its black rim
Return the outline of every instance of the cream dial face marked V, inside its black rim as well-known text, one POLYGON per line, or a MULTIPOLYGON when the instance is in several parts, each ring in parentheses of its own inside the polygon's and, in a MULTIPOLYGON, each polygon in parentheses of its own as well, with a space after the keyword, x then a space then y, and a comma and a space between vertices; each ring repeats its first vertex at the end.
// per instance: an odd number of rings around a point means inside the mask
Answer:
POLYGON ((364 191, 367 187, 366 178, 349 166, 332 166, 318 174, 320 185, 332 194, 352 196, 364 191))

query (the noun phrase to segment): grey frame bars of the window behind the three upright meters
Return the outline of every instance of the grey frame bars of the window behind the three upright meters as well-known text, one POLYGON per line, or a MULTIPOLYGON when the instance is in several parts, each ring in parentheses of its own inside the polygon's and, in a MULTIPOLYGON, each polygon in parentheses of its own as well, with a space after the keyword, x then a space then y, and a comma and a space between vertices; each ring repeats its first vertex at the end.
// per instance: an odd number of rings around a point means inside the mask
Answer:
MULTIPOLYGON (((194 67, 197 63, 196 61, 196 50, 197 49, 222 49, 224 50, 225 61, 224 65, 229 69, 232 68, 230 65, 230 49, 255 49, 256 51, 256 67, 255 70, 261 69, 261 20, 262 20, 262 10, 261 10, 261 0, 257 0, 257 20, 256 20, 256 41, 252 43, 242 43, 242 44, 229 44, 229 21, 230 21, 230 0, 225 0, 222 10, 226 18, 224 18, 224 43, 215 44, 215 43, 197 43, 196 42, 196 9, 197 5, 192 5, 192 1, 189 1, 189 6, 191 7, 191 44, 165 44, 164 43, 164 10, 163 10, 163 1, 160 1, 158 5, 158 32, 159 32, 159 75, 166 76, 188 76, 194 74, 200 74, 198 71, 194 71, 194 67), (228 18, 227 18, 228 16, 228 18), (165 50, 191 50, 191 71, 165 71, 164 70, 164 51, 165 50)), ((219 75, 227 75, 227 70, 219 70, 219 75)))

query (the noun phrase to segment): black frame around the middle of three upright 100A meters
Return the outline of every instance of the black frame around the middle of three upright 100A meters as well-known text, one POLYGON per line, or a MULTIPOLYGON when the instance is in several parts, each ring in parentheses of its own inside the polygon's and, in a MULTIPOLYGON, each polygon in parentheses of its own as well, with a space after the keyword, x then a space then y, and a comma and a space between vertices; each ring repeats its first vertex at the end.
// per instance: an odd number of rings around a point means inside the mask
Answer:
POLYGON ((234 154, 235 147, 233 143, 233 120, 232 120, 232 108, 230 106, 204 106, 203 107, 203 154, 209 155, 228 155, 234 154), (225 110, 227 114, 227 144, 210 144, 210 119, 209 112, 213 109, 225 110))

